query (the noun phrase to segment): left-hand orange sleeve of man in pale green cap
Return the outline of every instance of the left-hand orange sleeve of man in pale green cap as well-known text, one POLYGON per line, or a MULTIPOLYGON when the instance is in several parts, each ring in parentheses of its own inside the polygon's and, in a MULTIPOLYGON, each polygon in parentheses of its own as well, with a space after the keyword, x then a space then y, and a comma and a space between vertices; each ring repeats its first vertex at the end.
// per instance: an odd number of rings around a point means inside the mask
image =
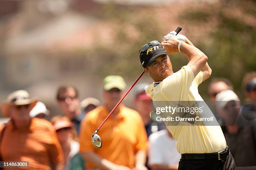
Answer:
POLYGON ((80 153, 84 151, 93 151, 95 147, 92 145, 92 133, 96 130, 93 120, 90 115, 86 115, 81 122, 79 143, 80 143, 80 153))

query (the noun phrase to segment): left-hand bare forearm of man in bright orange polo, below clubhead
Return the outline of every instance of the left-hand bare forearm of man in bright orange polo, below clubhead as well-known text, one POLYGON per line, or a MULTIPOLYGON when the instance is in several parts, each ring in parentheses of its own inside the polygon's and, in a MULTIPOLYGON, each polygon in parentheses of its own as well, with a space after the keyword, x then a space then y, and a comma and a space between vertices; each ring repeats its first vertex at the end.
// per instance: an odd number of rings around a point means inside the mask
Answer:
POLYGON ((93 151, 84 152, 84 153, 82 153, 82 155, 86 161, 97 165, 97 167, 102 170, 111 170, 111 169, 113 169, 113 166, 115 165, 114 163, 101 158, 93 151))

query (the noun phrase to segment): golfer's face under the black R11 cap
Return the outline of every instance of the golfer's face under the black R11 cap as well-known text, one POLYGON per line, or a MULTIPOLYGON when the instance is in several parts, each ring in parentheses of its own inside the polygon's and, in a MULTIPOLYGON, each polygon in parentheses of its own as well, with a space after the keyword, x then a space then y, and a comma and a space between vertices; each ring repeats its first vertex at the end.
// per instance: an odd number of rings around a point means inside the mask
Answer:
POLYGON ((160 55, 157 57, 148 69, 144 68, 155 82, 164 80, 169 75, 173 74, 172 63, 168 55, 160 55))

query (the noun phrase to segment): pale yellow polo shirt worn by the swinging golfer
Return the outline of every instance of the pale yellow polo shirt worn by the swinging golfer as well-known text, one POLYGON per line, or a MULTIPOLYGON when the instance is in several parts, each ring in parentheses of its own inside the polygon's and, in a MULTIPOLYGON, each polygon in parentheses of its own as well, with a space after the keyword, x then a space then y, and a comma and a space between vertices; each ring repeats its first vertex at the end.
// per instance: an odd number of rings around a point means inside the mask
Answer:
MULTIPOLYGON (((149 85, 146 92, 154 101, 203 101, 198 93, 198 85, 203 74, 194 74, 189 66, 166 77, 154 87, 149 85)), ((154 103, 154 106, 157 107, 154 103)), ((210 111, 210 114, 212 112, 210 111)), ((213 116, 213 114, 212 114, 213 116)), ((177 140, 179 153, 215 153, 226 148, 226 141, 220 126, 177 125, 167 126, 173 138, 177 140)))

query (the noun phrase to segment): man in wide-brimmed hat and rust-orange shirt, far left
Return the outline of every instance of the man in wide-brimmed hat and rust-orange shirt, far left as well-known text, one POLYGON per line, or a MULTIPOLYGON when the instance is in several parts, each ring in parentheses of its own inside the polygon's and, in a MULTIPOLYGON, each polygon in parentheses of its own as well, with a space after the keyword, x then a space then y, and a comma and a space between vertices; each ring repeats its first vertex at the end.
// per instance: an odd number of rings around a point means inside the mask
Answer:
POLYGON ((63 153, 53 126, 47 120, 29 116, 36 102, 27 91, 18 90, 1 105, 2 113, 10 117, 0 128, 1 158, 3 161, 28 161, 30 170, 51 170, 51 167, 62 170, 63 153))

